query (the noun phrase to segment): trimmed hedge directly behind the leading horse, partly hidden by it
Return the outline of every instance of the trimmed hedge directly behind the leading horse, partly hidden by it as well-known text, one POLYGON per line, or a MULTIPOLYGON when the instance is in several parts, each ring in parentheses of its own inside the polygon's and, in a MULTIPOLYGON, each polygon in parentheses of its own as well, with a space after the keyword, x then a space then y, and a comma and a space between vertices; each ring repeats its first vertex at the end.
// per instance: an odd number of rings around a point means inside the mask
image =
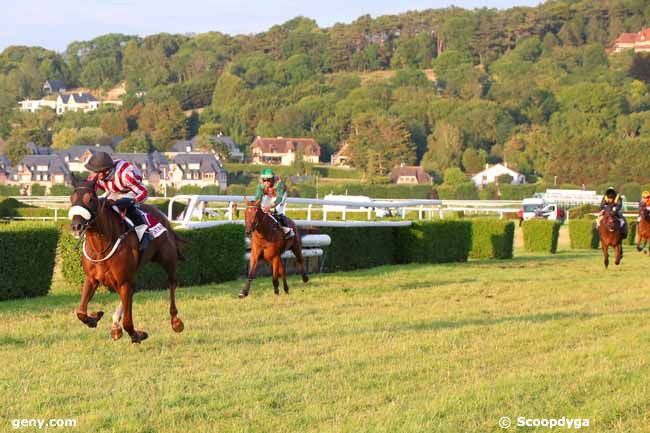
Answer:
MULTIPOLYGON (((188 241, 183 249, 187 259, 178 266, 180 285, 199 285, 234 280, 244 268, 244 226, 225 224, 201 230, 179 230, 178 235, 188 241)), ((75 249, 76 240, 64 231, 59 243, 64 278, 81 287, 85 274, 81 266, 81 248, 75 249)), ((136 288, 144 290, 165 289, 167 274, 156 263, 147 263, 136 279, 136 288)))

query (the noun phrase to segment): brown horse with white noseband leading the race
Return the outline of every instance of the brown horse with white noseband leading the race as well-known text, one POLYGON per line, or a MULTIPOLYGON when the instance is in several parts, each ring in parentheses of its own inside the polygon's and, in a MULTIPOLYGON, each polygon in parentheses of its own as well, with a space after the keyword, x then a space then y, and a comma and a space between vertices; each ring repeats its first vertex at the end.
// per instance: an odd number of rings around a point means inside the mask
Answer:
MULTIPOLYGON (((148 248, 140 253, 135 231, 127 226, 106 200, 97 197, 95 182, 78 181, 73 177, 73 185, 75 189, 70 196, 70 228, 77 239, 85 236, 81 260, 86 279, 77 309, 79 320, 90 328, 95 328, 104 315, 103 311, 88 314, 88 303, 101 283, 119 294, 124 309, 124 329, 131 336, 131 341, 140 343, 146 339, 146 332, 136 331, 133 327, 132 302, 136 272, 141 264, 153 261, 167 272, 171 325, 174 331, 182 332, 184 325, 177 316, 175 297, 179 247, 184 241, 174 233, 167 218, 155 207, 141 206, 145 212, 155 215, 167 231, 153 239, 148 248)), ((111 335, 114 340, 122 336, 119 322, 116 326, 114 321, 111 335)))

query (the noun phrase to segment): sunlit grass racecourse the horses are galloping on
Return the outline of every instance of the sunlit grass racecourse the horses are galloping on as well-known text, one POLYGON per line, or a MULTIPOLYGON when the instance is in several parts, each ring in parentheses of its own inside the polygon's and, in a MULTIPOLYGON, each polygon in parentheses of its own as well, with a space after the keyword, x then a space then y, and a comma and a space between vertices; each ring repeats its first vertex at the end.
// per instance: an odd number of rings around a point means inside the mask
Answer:
POLYGON ((141 345, 111 341, 110 319, 82 325, 75 291, 2 302, 0 431, 74 418, 46 431, 499 432, 502 416, 650 431, 650 258, 628 248, 605 272, 598 251, 563 245, 315 275, 304 290, 292 277, 289 296, 267 278, 246 300, 241 282, 183 287, 180 335, 167 294, 138 293, 141 345))

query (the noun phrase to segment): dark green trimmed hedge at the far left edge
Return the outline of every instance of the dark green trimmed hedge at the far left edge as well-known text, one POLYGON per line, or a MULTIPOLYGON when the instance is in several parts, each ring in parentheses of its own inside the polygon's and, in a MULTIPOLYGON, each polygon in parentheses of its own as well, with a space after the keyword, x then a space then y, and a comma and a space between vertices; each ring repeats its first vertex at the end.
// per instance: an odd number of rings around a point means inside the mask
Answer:
POLYGON ((0 300, 47 294, 57 240, 52 224, 0 224, 0 300))

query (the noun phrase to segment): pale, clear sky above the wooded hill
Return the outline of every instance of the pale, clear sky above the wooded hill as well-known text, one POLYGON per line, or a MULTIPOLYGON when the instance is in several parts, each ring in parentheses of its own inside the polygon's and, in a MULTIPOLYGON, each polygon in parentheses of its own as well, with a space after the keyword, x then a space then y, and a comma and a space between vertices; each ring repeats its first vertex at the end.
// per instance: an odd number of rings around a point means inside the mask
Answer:
POLYGON ((302 15, 320 27, 408 10, 455 5, 466 9, 536 6, 541 0, 14 0, 3 7, 0 51, 10 45, 62 52, 69 43, 107 33, 230 35, 259 33, 302 15))

